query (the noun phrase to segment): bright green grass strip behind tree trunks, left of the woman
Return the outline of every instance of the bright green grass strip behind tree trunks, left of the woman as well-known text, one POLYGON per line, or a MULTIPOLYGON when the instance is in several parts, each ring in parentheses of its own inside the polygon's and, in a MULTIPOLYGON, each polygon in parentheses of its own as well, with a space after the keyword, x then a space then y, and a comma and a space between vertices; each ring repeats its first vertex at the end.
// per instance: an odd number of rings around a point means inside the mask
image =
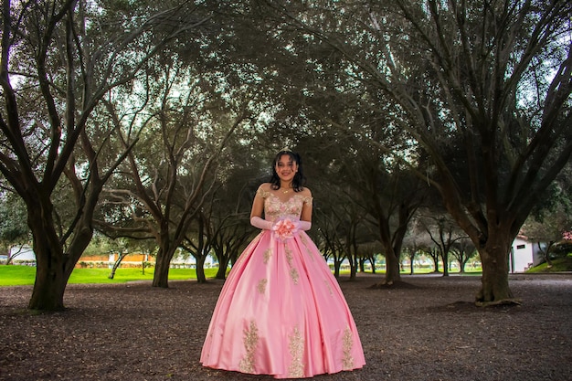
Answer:
MULTIPOLYGON (((73 283, 124 283, 134 280, 153 280, 153 269, 145 269, 145 274, 138 268, 117 269, 115 277, 111 280, 111 269, 75 269, 69 277, 69 284, 73 283)), ((205 269, 207 278, 213 278, 217 269, 205 269)), ((30 266, 0 266, 0 286, 25 286, 34 284, 36 268, 30 266)), ((194 269, 171 269, 169 280, 196 279, 194 269)))

